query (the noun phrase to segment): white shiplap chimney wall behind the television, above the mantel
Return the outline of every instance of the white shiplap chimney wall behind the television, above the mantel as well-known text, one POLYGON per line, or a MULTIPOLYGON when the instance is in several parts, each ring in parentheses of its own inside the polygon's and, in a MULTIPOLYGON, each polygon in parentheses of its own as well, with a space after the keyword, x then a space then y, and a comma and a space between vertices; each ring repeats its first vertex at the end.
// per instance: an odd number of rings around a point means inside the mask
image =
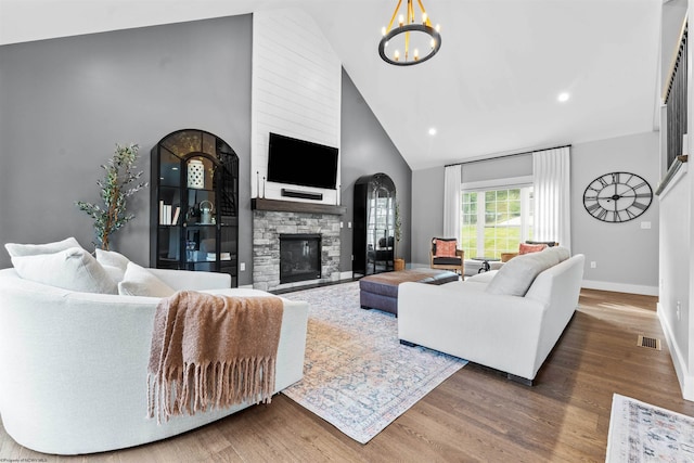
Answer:
MULTIPOLYGON (((339 147, 340 79, 342 64, 310 16, 299 10, 254 13, 252 197, 262 196, 270 132, 339 147)), ((338 169, 338 185, 339 176, 338 169)), ((320 192, 322 203, 339 203, 339 189, 274 182, 265 182, 265 197, 283 200, 282 188, 320 192)))

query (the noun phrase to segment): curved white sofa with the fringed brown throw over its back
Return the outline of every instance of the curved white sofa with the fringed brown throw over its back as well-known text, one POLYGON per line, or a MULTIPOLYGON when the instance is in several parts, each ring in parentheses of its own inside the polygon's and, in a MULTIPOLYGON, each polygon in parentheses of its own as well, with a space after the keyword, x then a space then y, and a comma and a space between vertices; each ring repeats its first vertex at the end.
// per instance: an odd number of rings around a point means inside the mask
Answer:
MULTIPOLYGON (((175 290, 268 295, 229 288, 227 274, 150 271, 175 290)), ((44 453, 101 452, 164 439, 248 407, 174 416, 160 425, 146 417, 158 301, 63 290, 0 270, 0 414, 8 434, 44 453)), ((284 299, 275 391, 303 376, 307 318, 306 303, 284 299)))

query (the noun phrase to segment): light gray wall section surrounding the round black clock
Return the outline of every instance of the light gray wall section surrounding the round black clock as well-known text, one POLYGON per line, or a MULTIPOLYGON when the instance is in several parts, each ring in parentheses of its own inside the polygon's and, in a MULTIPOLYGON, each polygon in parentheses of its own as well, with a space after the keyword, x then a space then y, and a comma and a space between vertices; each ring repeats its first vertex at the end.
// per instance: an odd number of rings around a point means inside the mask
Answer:
POLYGON ((596 177, 627 171, 643 177, 655 191, 659 182, 659 134, 579 143, 571 149, 571 243, 574 253, 586 255, 586 287, 626 293, 658 294, 658 200, 639 218, 606 223, 583 207, 583 191, 596 177), (651 222, 651 229, 642 229, 651 222), (596 267, 590 267, 594 261, 596 267), (633 286, 633 287, 632 287, 633 286))

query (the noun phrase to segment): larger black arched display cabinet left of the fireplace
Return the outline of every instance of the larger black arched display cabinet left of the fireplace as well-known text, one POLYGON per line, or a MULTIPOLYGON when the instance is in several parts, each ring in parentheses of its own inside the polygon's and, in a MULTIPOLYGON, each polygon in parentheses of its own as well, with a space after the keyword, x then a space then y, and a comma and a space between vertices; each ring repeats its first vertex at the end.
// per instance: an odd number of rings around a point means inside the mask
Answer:
POLYGON ((232 275, 237 286, 239 158, 221 139, 180 130, 152 149, 151 266, 232 275))

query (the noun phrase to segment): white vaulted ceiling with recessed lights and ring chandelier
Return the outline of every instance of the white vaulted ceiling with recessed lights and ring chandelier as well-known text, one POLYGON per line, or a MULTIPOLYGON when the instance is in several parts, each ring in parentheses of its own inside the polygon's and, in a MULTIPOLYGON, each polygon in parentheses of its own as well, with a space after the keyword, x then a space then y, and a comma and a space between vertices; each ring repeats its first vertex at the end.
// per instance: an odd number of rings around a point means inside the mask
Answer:
POLYGON ((423 2, 441 49, 409 67, 377 53, 396 0, 0 0, 0 44, 298 7, 412 169, 657 129, 661 0, 423 2))

